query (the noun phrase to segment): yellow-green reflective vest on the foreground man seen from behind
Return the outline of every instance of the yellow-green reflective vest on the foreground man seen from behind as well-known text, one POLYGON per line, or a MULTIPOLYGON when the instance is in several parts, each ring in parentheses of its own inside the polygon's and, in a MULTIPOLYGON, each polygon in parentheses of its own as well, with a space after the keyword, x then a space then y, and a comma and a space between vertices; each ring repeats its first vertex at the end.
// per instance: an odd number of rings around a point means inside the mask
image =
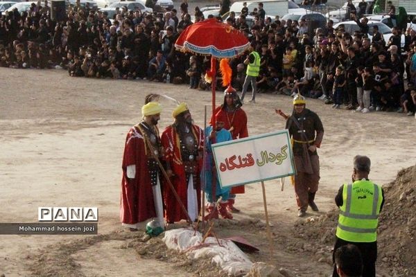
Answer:
POLYGON ((381 186, 372 181, 344 184, 336 236, 348 242, 375 242, 382 202, 381 186))

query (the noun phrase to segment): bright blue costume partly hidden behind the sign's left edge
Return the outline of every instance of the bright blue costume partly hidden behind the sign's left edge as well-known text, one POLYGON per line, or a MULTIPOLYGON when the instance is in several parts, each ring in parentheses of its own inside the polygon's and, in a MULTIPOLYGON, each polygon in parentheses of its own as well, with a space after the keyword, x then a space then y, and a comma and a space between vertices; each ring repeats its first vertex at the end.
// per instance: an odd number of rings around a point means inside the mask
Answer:
MULTIPOLYGON (((201 172, 201 179, 203 178, 202 174, 205 174, 205 186, 203 186, 203 188, 205 188, 205 195, 207 195, 208 202, 215 202, 220 196, 223 197, 223 201, 227 201, 229 198, 229 190, 231 190, 231 188, 221 188, 220 183, 218 182, 218 177, 216 177, 216 198, 213 199, 212 197, 212 171, 214 166, 214 157, 212 155, 211 141, 208 139, 211 131, 211 126, 205 129, 207 152, 205 154, 205 168, 201 172)), ((216 142, 222 143, 223 141, 232 141, 232 134, 224 128, 216 132, 216 142)))

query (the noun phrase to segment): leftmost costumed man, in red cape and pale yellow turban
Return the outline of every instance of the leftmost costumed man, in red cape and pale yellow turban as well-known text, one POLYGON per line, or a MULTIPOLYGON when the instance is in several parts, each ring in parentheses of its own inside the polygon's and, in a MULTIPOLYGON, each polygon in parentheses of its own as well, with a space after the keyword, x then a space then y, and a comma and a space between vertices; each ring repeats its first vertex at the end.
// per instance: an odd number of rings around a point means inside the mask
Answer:
POLYGON ((125 139, 121 181, 120 219, 130 231, 139 222, 157 217, 164 226, 163 202, 157 159, 162 154, 157 122, 162 106, 148 102, 141 108, 143 120, 133 126, 125 139))

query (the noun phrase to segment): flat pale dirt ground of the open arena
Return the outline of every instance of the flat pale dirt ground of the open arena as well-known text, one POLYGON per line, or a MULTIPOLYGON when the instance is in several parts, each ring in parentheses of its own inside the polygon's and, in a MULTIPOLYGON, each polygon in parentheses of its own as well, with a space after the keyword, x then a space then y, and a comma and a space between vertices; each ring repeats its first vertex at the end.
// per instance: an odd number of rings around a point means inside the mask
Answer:
MULTIPOLYGON (((150 247, 159 238, 141 242, 140 232, 125 231, 119 223, 125 134, 141 119, 144 96, 164 93, 188 102, 196 124, 203 127, 204 105, 210 105, 211 93, 187 89, 186 85, 69 78, 61 70, 1 68, 0 84, 0 222, 37 222, 39 206, 99 209, 96 236, 2 235, 0 274, 220 276, 207 262, 193 265, 162 245, 150 247)), ((218 91, 216 96, 219 105, 223 93, 218 91)), ((290 113, 291 98, 261 94, 256 100, 256 104, 243 106, 250 134, 283 129, 284 120, 274 109, 290 113)), ((172 122, 173 104, 162 105, 159 128, 163 130, 172 122)), ((318 150, 320 212, 309 215, 320 216, 334 208, 333 197, 339 186, 351 179, 356 154, 372 159, 370 178, 378 184, 388 184, 399 170, 415 165, 415 118, 333 110, 320 100, 308 100, 307 107, 320 115, 325 128, 318 150)), ((279 181, 267 181, 266 194, 273 256, 263 224, 260 184, 247 186, 245 195, 239 195, 236 206, 243 212, 236 214, 235 220, 219 222, 218 235, 242 235, 261 250, 250 254, 253 261, 287 269, 287 276, 328 276, 330 247, 320 249, 319 255, 312 254, 306 251, 310 245, 302 240, 302 234, 293 235, 300 222, 288 179, 284 191, 279 181)), ((327 238, 333 235, 322 234, 327 238)), ((377 270, 380 276, 389 276, 383 263, 377 270)))

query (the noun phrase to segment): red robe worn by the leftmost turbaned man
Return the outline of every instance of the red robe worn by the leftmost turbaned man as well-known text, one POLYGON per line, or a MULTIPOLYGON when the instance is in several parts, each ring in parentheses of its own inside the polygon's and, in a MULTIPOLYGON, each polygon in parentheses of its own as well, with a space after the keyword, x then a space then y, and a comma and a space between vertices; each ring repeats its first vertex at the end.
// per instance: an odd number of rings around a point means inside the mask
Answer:
POLYGON ((156 217, 153 190, 148 174, 148 156, 145 153, 150 157, 143 135, 137 127, 132 127, 125 138, 122 166, 120 220, 124 224, 137 224, 156 217), (136 165, 135 179, 127 177, 127 167, 131 165, 136 165))

